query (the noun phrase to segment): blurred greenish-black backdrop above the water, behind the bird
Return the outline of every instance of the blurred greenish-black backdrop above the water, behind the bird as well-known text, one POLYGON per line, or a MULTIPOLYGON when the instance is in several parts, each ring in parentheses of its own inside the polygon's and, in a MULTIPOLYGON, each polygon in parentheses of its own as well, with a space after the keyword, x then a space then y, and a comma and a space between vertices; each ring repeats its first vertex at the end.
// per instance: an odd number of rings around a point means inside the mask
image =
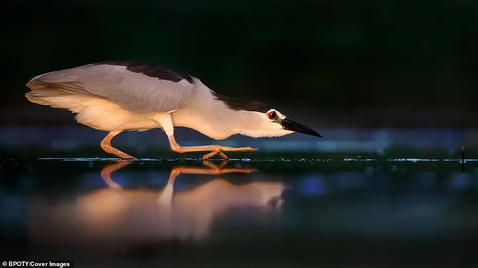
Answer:
POLYGON ((5 2, 1 124, 76 124, 36 75, 157 63, 321 127, 477 128, 478 1, 5 2))

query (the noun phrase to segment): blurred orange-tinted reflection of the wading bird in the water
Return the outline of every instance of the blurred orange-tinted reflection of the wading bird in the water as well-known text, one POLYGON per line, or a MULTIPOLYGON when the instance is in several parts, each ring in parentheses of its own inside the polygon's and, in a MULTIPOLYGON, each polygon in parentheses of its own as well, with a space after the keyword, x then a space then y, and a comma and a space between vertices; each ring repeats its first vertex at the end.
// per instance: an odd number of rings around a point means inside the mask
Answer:
POLYGON ((281 182, 252 181, 236 185, 217 178, 188 191, 174 192, 180 174, 251 173, 249 168, 225 167, 204 161, 203 166, 175 166, 161 191, 124 189, 111 173, 132 161, 118 161, 101 171, 109 185, 79 196, 74 202, 37 204, 29 220, 33 241, 75 247, 94 253, 117 253, 172 240, 198 240, 207 236, 215 218, 233 208, 281 206, 287 188, 281 182), (102 246, 100 246, 102 245, 102 246))

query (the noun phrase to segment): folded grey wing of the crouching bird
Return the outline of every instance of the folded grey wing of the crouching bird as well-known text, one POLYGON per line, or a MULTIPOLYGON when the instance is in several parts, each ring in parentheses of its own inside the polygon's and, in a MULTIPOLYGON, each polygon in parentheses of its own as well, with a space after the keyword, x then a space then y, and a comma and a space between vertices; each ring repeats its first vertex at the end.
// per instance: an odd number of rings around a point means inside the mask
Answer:
POLYGON ((89 64, 39 75, 30 80, 27 86, 33 92, 52 88, 70 94, 109 100, 138 113, 180 109, 186 105, 188 98, 194 96, 195 79, 165 68, 161 70, 162 76, 155 76, 144 69, 131 70, 125 65, 89 64), (164 70, 169 72, 169 76, 164 75, 164 70), (171 74, 177 74, 176 79, 171 79, 171 74))

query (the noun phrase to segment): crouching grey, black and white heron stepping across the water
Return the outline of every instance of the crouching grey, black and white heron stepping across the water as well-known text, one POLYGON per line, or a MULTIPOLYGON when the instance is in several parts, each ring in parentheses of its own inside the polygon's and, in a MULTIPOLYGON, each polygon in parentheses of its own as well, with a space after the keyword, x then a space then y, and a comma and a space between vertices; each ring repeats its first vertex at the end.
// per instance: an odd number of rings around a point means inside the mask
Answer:
POLYGON ((216 155, 228 159, 223 152, 256 148, 180 146, 174 127, 191 128, 214 140, 235 134, 260 138, 294 132, 322 137, 265 103, 226 97, 195 76, 152 63, 95 62, 35 76, 26 86, 30 102, 70 110, 78 123, 107 131, 101 148, 124 160, 135 158, 111 146, 113 137, 123 131, 162 128, 173 152, 209 152, 203 160, 216 155))

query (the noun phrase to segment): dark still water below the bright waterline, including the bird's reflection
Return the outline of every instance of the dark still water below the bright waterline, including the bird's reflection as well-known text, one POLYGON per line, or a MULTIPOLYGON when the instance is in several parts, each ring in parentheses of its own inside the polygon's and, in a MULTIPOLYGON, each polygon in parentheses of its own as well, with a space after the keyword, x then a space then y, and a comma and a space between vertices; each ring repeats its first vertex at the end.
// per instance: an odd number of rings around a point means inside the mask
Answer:
POLYGON ((478 161, 0 159, 2 259, 478 267, 478 161))

